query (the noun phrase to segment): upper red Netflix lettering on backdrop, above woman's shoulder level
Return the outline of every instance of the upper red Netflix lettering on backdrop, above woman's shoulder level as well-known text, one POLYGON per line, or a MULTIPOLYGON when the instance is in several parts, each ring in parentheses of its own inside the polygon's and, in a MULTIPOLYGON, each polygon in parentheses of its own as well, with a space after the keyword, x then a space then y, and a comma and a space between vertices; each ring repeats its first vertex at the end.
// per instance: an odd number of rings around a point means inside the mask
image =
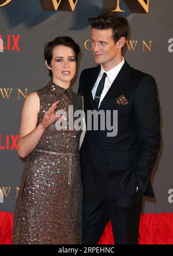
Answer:
POLYGON ((21 35, 3 36, 0 34, 0 52, 4 52, 5 50, 20 52, 20 46, 18 45, 20 36, 21 35))

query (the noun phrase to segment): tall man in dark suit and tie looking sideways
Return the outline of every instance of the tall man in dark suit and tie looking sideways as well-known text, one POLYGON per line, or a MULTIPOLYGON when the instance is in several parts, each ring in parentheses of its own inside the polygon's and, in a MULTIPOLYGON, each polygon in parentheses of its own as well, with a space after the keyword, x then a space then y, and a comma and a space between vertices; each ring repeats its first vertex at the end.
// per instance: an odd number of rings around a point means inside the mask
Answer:
POLYGON ((99 66, 82 71, 79 93, 86 116, 97 109, 110 110, 114 118, 118 111, 118 134, 86 130, 80 150, 82 239, 96 244, 111 220, 115 244, 137 244, 142 196, 154 196, 150 177, 160 147, 156 82, 122 57, 129 27, 125 18, 104 13, 89 23, 99 66))

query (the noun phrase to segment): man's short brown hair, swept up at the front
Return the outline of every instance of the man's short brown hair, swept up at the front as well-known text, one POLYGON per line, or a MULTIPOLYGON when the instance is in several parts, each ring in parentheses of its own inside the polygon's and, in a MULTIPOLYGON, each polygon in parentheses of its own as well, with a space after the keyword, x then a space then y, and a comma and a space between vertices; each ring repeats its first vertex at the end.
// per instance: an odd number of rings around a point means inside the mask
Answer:
POLYGON ((102 13, 98 17, 92 17, 89 24, 96 30, 107 30, 112 28, 113 39, 116 43, 122 36, 127 38, 129 23, 126 18, 119 16, 117 13, 102 13))

